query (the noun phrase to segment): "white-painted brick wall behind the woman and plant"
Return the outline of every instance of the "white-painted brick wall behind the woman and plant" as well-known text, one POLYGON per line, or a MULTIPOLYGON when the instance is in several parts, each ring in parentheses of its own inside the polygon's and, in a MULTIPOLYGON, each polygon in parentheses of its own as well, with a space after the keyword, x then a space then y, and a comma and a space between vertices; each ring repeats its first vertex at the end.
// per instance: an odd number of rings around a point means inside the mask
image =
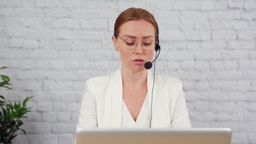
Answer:
POLYGON ((14 143, 73 143, 84 82, 120 65, 111 36, 129 7, 152 12, 157 73, 183 80, 193 127, 230 127, 256 143, 256 1, 0 0, 0 67, 7 99, 34 96, 14 143))

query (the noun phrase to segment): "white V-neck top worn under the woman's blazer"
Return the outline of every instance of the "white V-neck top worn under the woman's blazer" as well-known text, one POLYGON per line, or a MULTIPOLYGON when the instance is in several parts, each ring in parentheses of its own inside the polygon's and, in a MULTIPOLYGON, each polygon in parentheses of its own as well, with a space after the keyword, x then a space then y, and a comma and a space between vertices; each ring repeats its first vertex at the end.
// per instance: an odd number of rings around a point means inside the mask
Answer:
POLYGON ((150 106, 148 105, 148 94, 142 104, 141 111, 139 111, 136 122, 125 105, 123 100, 123 114, 122 114, 122 128, 149 128, 150 123, 150 106))

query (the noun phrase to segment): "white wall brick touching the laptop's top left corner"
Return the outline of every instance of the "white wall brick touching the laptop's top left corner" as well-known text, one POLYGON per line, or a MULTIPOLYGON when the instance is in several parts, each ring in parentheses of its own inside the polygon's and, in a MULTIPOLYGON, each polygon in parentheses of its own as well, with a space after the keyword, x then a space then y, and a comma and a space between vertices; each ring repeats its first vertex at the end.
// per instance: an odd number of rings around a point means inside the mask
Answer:
POLYGON ((54 133, 57 134, 66 134, 66 133, 75 133, 75 126, 76 124, 70 123, 70 124, 62 124, 58 123, 53 125, 52 129, 54 133))

